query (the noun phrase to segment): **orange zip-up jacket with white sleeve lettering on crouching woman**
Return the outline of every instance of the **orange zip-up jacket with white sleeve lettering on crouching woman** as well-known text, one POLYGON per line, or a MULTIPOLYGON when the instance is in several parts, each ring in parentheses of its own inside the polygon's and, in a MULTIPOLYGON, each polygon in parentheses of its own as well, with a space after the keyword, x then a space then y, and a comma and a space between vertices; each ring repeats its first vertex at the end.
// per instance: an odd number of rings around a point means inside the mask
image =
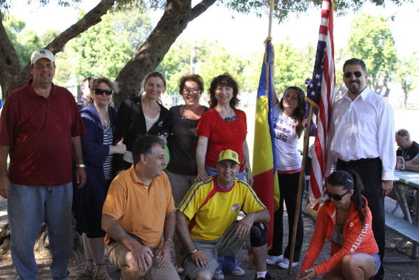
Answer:
MULTIPOLYGON (((367 199, 362 196, 367 203, 367 199)), ((302 263, 301 270, 313 267, 318 258, 318 254, 323 249, 325 238, 330 242, 330 258, 320 265, 314 266, 316 274, 320 275, 329 272, 341 263, 341 259, 348 253, 367 253, 372 255, 378 253, 378 246, 372 233, 372 214, 368 207, 365 213, 365 223, 362 225, 355 204, 351 202, 348 212, 348 220, 344 228, 344 244, 337 246, 332 243, 332 233, 335 230, 336 209, 333 202, 328 198, 320 208, 316 221, 316 229, 311 237, 307 255, 302 263)))

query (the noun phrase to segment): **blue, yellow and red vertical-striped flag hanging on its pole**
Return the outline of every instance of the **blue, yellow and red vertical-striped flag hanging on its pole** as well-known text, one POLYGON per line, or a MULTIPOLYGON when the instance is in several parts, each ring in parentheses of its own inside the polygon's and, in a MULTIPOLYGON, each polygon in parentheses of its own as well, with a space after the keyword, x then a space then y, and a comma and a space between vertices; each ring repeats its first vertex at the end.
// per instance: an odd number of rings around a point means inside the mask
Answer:
POLYGON ((256 99, 255 138, 253 142, 253 189, 270 212, 268 246, 272 245, 274 210, 279 207, 279 184, 275 176, 272 98, 274 94, 274 57, 271 38, 266 40, 265 56, 256 99))

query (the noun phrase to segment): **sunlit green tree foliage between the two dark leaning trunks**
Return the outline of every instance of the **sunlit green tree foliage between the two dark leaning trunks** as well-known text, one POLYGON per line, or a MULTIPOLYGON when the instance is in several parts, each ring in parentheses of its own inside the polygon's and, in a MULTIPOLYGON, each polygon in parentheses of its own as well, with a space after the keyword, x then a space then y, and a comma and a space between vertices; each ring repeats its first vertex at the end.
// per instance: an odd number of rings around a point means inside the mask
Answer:
POLYGON ((78 80, 88 76, 117 78, 151 28, 149 17, 134 10, 104 15, 100 23, 66 46, 64 52, 74 69, 71 74, 78 80))

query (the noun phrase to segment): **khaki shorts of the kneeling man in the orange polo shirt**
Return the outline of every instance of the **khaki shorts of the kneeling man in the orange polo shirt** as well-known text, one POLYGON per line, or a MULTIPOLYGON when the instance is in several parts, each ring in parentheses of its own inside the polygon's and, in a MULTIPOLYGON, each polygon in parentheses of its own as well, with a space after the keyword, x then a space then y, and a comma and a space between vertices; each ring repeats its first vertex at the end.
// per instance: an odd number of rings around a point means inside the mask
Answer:
MULTIPOLYGON (((158 248, 152 248, 151 250, 154 256, 156 256, 159 252, 158 248)), ((110 263, 119 268, 119 270, 122 270, 126 266, 126 254, 128 252, 129 250, 118 242, 112 242, 107 248, 110 263)), ((160 260, 154 257, 152 267, 147 271, 147 274, 145 274, 145 280, 180 280, 179 275, 177 274, 171 261, 163 270, 158 267, 159 263, 160 260)))

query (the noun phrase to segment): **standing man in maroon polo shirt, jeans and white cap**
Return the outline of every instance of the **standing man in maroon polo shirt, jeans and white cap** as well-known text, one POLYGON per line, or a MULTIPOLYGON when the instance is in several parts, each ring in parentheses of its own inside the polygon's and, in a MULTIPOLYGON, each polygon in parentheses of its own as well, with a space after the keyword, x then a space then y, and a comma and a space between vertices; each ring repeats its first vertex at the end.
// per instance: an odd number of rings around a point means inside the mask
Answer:
POLYGON ((71 164, 74 155, 82 187, 84 126, 73 95, 52 84, 54 54, 36 50, 30 70, 31 80, 9 94, 0 118, 0 195, 8 198, 10 252, 17 279, 36 280, 34 244, 45 221, 52 279, 68 279, 73 247, 71 164))

